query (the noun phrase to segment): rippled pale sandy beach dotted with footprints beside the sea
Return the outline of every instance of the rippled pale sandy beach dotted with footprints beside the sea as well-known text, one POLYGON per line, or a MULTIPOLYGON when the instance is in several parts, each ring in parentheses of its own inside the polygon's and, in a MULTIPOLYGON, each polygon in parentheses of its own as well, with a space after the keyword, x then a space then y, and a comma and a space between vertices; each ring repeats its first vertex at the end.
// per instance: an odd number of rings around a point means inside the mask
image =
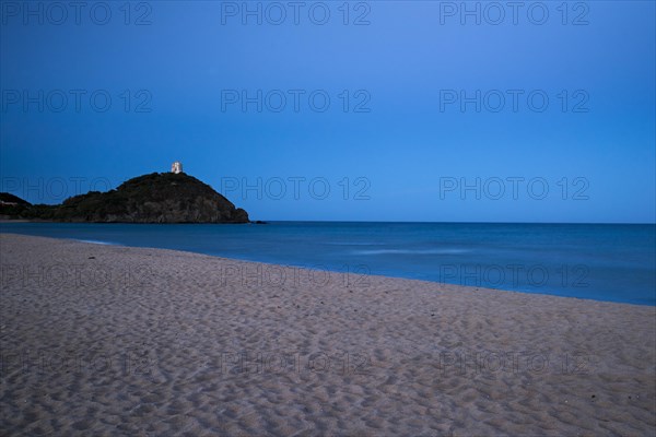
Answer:
POLYGON ((0 263, 0 435, 656 434, 654 307, 11 234, 0 263))

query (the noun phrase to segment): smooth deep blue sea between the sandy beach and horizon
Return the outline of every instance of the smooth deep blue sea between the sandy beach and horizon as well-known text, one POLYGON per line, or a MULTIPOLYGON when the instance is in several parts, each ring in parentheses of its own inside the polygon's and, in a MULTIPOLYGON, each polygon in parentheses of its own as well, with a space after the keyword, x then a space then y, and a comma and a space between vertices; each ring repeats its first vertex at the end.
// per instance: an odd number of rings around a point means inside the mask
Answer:
POLYGON ((655 225, 4 223, 0 231, 354 274, 656 305, 655 225))

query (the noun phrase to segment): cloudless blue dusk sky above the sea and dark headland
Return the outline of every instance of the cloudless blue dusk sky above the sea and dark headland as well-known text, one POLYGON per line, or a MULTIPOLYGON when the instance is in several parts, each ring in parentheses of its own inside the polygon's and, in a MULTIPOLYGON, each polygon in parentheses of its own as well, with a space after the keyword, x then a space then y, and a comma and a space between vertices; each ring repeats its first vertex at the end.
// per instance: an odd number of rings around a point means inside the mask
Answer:
POLYGON ((251 220, 655 222, 653 1, 345 4, 2 2, 0 190, 179 160, 251 220))

